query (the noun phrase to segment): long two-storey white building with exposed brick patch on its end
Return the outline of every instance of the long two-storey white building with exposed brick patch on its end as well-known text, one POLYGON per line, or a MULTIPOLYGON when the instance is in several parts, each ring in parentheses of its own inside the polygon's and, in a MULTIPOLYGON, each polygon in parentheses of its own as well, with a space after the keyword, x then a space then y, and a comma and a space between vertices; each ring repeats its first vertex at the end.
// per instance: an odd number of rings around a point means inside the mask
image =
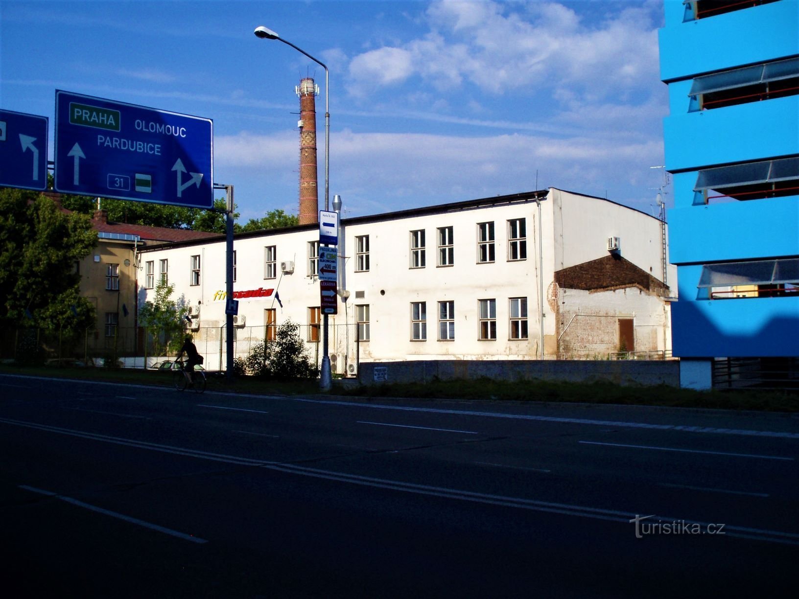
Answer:
MULTIPOLYGON (((664 227, 555 188, 344 219, 332 370, 352 374, 359 361, 662 355, 670 350, 666 283, 676 288, 664 227)), ((318 239, 317 224, 236 236, 237 355, 291 320, 320 359, 318 239)), ((224 236, 145 248, 139 264, 168 273, 197 316, 205 366, 219 367, 224 236)), ((141 304, 152 299, 153 277, 139 285, 141 304)))

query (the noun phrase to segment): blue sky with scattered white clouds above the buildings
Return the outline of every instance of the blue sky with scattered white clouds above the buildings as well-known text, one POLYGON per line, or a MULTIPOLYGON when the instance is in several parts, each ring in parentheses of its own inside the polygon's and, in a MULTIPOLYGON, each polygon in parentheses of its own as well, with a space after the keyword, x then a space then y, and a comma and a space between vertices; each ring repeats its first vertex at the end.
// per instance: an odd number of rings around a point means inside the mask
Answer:
POLYGON ((247 220, 297 212, 294 88, 314 77, 324 207, 324 70, 264 25, 328 65, 345 216, 549 186, 651 213, 662 2, 0 0, 0 107, 50 117, 50 159, 56 89, 211 118, 247 220))

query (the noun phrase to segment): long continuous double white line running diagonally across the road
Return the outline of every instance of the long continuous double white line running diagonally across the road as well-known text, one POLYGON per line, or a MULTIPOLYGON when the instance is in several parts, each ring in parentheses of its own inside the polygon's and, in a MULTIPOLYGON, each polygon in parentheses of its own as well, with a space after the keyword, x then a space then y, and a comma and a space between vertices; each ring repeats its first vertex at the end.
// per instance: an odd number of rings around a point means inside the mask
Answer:
MULTIPOLYGON (((149 443, 145 441, 136 441, 134 439, 110 437, 109 435, 85 433, 81 430, 70 430, 60 428, 58 426, 49 426, 38 424, 35 422, 22 422, 18 420, 10 420, 0 418, 0 422, 11 424, 14 426, 24 426, 26 428, 33 428, 37 430, 45 430, 58 434, 66 434, 73 437, 89 438, 94 441, 101 441, 106 443, 113 443, 116 445, 124 445, 131 447, 138 447, 146 450, 160 451, 167 454, 175 455, 188 455, 189 457, 212 460, 214 462, 225 462, 229 464, 239 464, 245 466, 258 466, 266 470, 277 470, 288 474, 300 474, 302 476, 311 476, 314 478, 325 478, 332 481, 348 482, 354 485, 361 486, 374 486, 381 489, 399 490, 407 493, 435 495, 442 498, 451 498, 468 502, 479 502, 491 504, 495 506, 515 507, 524 510, 535 510, 542 512, 551 512, 555 514, 563 514, 569 516, 579 516, 582 518, 592 518, 594 520, 609 520, 611 522, 623 522, 629 524, 630 518, 634 518, 636 514, 633 512, 624 512, 618 510, 604 510, 601 508, 594 508, 588 506, 574 506, 566 503, 542 502, 535 499, 514 498, 503 495, 491 495, 483 493, 475 493, 473 491, 464 491, 456 489, 448 489, 446 487, 417 485, 410 482, 400 482, 386 480, 383 478, 372 478, 367 476, 360 476, 358 474, 347 474, 343 472, 334 472, 332 470, 317 470, 307 468, 304 466, 296 466, 293 464, 284 464, 280 462, 268 462, 265 460, 254 460, 251 458, 239 458, 233 455, 225 454, 212 454, 207 451, 192 450, 185 447, 174 447, 167 445, 158 445, 156 443, 149 443)), ((660 514, 653 514, 658 516, 663 521, 681 520, 690 524, 700 524, 707 526, 706 522, 699 522, 689 518, 672 518, 660 514)), ((799 546, 799 534, 785 533, 780 530, 763 530, 755 529, 744 526, 727 525, 725 531, 728 537, 749 538, 758 541, 769 541, 773 543, 782 543, 785 545, 799 546)))

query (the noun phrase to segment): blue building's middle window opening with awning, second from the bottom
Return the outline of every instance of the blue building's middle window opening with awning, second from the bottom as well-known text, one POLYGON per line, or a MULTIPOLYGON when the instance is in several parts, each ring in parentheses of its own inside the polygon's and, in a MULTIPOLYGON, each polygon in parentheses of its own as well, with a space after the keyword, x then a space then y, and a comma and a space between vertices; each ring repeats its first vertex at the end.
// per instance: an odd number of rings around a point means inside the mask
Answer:
POLYGON ((694 204, 709 200, 761 200, 799 195, 799 157, 748 162, 699 171, 694 185, 694 204), (708 195, 716 192, 715 195, 708 195))

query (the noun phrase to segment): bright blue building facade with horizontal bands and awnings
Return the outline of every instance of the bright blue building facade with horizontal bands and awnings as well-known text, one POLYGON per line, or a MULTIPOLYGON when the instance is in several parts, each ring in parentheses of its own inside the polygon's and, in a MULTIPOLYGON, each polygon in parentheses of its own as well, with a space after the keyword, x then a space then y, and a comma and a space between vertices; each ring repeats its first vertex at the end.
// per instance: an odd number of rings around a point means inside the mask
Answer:
POLYGON ((716 358, 799 356, 799 0, 664 4, 673 347, 706 388, 716 358))

